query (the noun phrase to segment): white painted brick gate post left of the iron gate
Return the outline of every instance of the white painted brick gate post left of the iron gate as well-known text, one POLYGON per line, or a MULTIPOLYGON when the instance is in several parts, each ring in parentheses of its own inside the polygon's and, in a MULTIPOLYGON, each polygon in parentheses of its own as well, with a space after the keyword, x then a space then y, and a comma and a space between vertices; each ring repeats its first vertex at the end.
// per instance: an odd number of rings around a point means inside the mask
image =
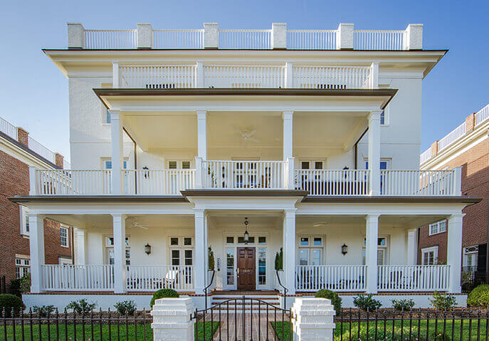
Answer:
POLYGON ((160 298, 151 310, 154 341, 194 341, 194 323, 191 298, 160 298))

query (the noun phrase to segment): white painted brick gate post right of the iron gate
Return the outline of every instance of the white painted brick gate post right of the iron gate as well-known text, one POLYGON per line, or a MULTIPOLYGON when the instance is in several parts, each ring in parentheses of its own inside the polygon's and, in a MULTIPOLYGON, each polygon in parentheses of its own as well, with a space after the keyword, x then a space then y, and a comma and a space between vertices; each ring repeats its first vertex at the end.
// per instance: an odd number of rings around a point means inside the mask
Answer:
POLYGON ((292 306, 293 341, 332 341, 335 309, 327 298, 296 298, 292 306))

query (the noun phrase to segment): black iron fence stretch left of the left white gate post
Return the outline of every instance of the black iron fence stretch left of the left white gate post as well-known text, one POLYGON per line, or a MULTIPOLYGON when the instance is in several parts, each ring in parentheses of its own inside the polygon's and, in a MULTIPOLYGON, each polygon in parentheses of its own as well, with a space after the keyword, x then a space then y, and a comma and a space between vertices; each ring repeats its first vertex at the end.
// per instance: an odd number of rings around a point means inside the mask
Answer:
POLYGON ((68 313, 66 310, 28 313, 3 311, 0 317, 0 340, 153 340, 152 317, 147 311, 120 315, 113 311, 68 313))

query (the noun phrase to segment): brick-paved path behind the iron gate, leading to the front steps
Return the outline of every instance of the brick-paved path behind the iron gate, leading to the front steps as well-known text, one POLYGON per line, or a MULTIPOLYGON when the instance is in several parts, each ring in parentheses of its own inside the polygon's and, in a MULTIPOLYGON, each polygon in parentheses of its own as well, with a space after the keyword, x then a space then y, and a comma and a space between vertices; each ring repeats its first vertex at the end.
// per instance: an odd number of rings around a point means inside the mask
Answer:
MULTIPOLYGON (((214 313, 214 321, 219 321, 219 312, 214 313)), ((211 314, 206 315, 206 321, 211 320, 211 314)), ((282 312, 277 311, 276 321, 282 320, 282 312)), ((284 320, 289 318, 284 314, 284 320)), ((214 334, 214 341, 278 341, 278 337, 272 328, 271 323, 275 322, 275 314, 273 311, 266 313, 249 313, 244 314, 244 339, 243 339, 243 313, 234 313, 234 311, 221 310, 221 330, 217 330, 214 334), (268 315, 268 322, 267 322, 268 315), (251 323, 252 320, 252 323, 251 323), (267 328, 268 326, 268 328, 267 328), (237 337, 236 337, 237 335, 237 337), (268 337, 267 337, 268 335, 268 337)), ((286 340, 288 341, 288 340, 286 340)))

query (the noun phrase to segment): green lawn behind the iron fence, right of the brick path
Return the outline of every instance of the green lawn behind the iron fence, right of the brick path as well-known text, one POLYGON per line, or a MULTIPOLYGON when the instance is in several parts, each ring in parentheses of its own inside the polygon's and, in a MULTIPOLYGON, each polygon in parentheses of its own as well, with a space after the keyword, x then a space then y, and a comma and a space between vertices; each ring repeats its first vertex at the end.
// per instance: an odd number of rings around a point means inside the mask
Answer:
MULTIPOLYGON (((377 322, 377 340, 386 341, 401 341, 409 340, 409 332, 411 330, 411 340, 451 340, 451 341, 470 341, 470 340, 485 340, 485 320, 480 320, 478 326, 477 320, 472 320, 472 325, 469 328, 469 320, 463 320, 463 332, 461 335, 461 321, 460 320, 430 320, 429 324, 426 324, 426 320, 414 320, 412 321, 411 329, 409 326, 409 320, 404 320, 404 323, 396 320, 394 322, 394 337, 392 335, 392 321, 385 323, 385 335, 384 335, 384 321, 377 322), (418 327, 419 322, 419 327, 418 327), (402 328, 401 328, 402 327, 402 328), (446 338, 443 338, 443 327, 445 328, 446 338), (436 328, 436 334, 435 334, 436 328), (479 328, 479 332, 478 332, 479 328), (402 330, 402 332, 401 332, 402 330), (418 339, 419 330, 419 339, 418 339), (452 338, 453 330, 453 338, 452 338), (470 330, 470 332, 469 332, 470 330), (469 337, 470 334, 470 337, 469 337), (479 334, 479 337, 478 337, 479 334), (426 337, 428 335, 428 337, 426 337)), ((290 322, 285 321, 283 326, 282 335, 282 322, 272 323, 272 327, 277 332, 280 340, 289 340, 290 322)), ((375 337, 375 322, 369 322, 368 337, 367 337, 367 322, 358 322, 352 320, 352 332, 349 332, 349 322, 337 322, 334 340, 374 340, 375 337), (342 326, 343 324, 343 326, 342 326)))

